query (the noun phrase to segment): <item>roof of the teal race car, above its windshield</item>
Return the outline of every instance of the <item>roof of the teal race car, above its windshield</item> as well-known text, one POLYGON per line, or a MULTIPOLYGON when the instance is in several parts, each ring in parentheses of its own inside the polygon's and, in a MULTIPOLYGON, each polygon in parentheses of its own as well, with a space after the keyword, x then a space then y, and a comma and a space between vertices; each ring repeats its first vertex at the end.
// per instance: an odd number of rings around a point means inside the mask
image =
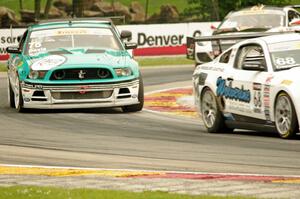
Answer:
POLYGON ((67 28, 70 27, 110 27, 113 25, 108 18, 67 18, 42 20, 29 26, 30 30, 41 30, 49 28, 67 28))

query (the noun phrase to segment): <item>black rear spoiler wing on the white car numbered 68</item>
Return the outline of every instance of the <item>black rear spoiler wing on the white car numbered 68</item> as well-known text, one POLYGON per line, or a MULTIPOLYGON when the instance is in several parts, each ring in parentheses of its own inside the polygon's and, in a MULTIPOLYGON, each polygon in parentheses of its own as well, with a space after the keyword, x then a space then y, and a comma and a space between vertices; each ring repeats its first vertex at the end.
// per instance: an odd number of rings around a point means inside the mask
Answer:
POLYGON ((188 59, 195 59, 195 43, 204 41, 217 41, 220 53, 222 52, 221 41, 222 40, 243 40, 252 39, 257 37, 294 33, 297 31, 286 31, 286 32, 262 32, 262 33, 250 33, 250 34, 239 34, 239 35, 213 35, 213 36, 200 36, 200 37, 187 37, 186 38, 186 57, 188 59))

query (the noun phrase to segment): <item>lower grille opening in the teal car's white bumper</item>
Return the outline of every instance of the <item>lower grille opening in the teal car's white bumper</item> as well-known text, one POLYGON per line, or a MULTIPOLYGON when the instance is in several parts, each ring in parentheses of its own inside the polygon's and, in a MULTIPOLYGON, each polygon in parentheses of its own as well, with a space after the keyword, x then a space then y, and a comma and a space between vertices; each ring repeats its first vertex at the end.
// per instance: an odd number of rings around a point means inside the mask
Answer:
POLYGON ((87 91, 87 92, 51 92, 56 100, 80 100, 80 99, 105 99, 112 95, 113 91, 87 91))

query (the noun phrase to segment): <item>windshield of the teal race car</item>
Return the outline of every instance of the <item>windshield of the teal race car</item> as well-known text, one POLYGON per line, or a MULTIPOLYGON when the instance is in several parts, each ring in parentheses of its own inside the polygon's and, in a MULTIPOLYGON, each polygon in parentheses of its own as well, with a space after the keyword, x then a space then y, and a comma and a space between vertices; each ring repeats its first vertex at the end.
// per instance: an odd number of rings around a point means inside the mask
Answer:
POLYGON ((122 50, 120 42, 108 28, 58 28, 31 33, 25 50, 30 56, 66 49, 122 50))

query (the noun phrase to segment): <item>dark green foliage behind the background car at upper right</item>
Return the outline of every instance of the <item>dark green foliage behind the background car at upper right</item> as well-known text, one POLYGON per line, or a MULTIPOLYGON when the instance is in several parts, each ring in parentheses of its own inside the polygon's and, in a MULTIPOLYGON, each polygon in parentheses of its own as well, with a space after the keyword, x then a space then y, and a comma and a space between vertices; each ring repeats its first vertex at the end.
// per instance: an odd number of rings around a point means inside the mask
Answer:
POLYGON ((284 6, 291 0, 187 0, 190 7, 184 10, 185 17, 195 20, 222 20, 230 11, 258 4, 284 6))

